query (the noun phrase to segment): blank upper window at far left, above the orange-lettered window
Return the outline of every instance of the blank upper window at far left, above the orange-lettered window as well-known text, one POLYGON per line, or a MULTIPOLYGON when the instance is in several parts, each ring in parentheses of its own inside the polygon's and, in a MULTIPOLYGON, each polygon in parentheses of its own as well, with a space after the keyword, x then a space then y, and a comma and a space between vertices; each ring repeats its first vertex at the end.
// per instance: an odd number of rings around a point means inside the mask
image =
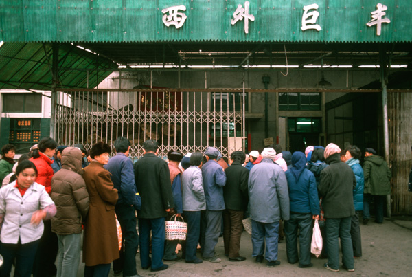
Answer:
POLYGON ((41 113, 41 93, 3 93, 3 113, 41 113))

